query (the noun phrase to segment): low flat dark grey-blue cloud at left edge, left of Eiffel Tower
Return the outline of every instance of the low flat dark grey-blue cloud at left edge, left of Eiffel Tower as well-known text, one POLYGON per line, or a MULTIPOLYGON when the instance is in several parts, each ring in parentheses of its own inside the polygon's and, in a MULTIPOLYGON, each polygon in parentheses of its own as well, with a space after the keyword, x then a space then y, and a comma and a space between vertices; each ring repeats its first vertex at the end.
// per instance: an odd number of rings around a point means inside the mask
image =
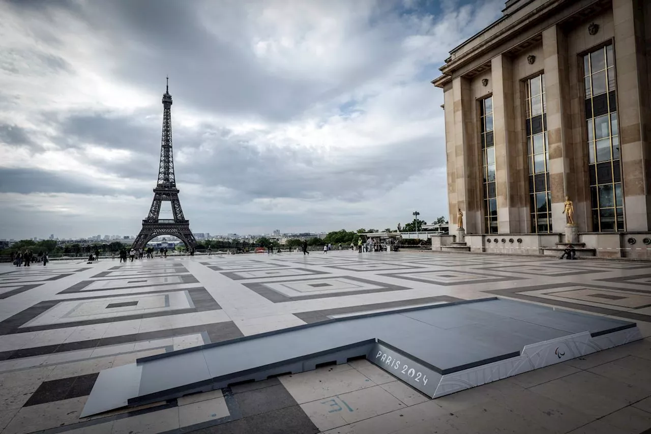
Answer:
POLYGON ((80 177, 39 169, 9 169, 0 167, 2 193, 77 193, 112 194, 110 188, 97 186, 80 177))

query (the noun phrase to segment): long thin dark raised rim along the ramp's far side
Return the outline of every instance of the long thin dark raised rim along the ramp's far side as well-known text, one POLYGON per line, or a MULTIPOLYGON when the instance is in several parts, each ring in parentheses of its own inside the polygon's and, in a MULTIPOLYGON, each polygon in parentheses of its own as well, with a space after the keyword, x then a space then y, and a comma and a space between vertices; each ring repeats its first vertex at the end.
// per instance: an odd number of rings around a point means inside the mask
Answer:
POLYGON ((222 345, 229 345, 230 343, 238 343, 238 342, 242 342, 242 341, 255 340, 255 339, 258 339, 258 338, 266 338, 267 336, 274 336, 276 334, 283 334, 283 333, 286 333, 286 332, 294 332, 296 330, 304 330, 304 329, 307 329, 307 328, 312 328, 312 327, 326 325, 326 324, 339 323, 339 322, 345 322, 345 321, 353 321, 353 320, 357 320, 357 319, 364 319, 364 318, 371 318, 371 317, 378 317, 378 316, 381 316, 381 315, 391 315, 393 313, 403 313, 403 312, 417 311, 417 310, 445 308, 447 306, 458 306, 458 305, 461 305, 461 304, 473 304, 473 303, 480 303, 480 302, 495 301, 495 300, 499 300, 499 299, 500 299, 499 297, 487 297, 487 298, 477 298, 475 300, 459 300, 459 301, 454 301, 454 302, 449 302, 449 303, 442 303, 442 304, 416 306, 415 308, 404 308, 404 309, 398 309, 398 310, 365 313, 363 315, 355 315, 355 316, 352 316, 352 317, 331 318, 331 319, 327 319, 326 321, 318 321, 317 323, 301 324, 301 325, 298 325, 298 326, 293 326, 293 327, 288 327, 288 328, 281 328, 279 330, 271 330, 271 332, 264 332, 264 333, 260 333, 260 334, 252 334, 251 336, 241 336, 240 338, 234 338, 234 339, 229 339, 229 340, 219 341, 219 342, 213 342, 213 343, 206 343, 205 345, 199 345, 197 347, 184 348, 184 349, 172 351, 170 353, 154 354, 152 356, 146 356, 146 357, 138 358, 138 359, 136 359, 135 362, 137 364, 142 363, 142 362, 150 362, 152 360, 158 360, 160 358, 167 358, 167 357, 171 357, 171 356, 176 356, 178 354, 185 354, 185 353, 191 353, 193 351, 200 351, 200 350, 214 348, 214 347, 221 347, 222 345))

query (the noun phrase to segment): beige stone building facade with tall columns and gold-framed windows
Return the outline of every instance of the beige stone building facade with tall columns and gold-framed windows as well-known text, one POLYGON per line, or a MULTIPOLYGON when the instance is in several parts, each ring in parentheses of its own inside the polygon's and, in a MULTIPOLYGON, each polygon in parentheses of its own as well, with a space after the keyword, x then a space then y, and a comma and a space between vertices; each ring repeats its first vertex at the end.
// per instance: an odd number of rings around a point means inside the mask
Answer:
POLYGON ((557 254, 568 196, 581 253, 651 259, 651 1, 508 0, 440 70, 471 250, 557 254))

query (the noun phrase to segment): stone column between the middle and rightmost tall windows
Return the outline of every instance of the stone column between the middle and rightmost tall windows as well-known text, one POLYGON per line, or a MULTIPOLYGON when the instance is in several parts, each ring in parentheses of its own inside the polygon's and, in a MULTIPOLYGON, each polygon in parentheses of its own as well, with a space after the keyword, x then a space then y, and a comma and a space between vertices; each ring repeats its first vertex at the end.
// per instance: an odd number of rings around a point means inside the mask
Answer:
MULTIPOLYGON (((565 196, 574 202, 574 222, 579 230, 587 231, 585 203, 577 200, 577 179, 572 172, 570 78, 564 34, 558 26, 542 32, 547 100, 547 152, 549 152, 549 182, 551 184, 551 224, 554 232, 564 232, 565 196)), ((584 195, 581 195, 584 196, 584 195)), ((589 204, 587 205, 590 206, 589 204)))

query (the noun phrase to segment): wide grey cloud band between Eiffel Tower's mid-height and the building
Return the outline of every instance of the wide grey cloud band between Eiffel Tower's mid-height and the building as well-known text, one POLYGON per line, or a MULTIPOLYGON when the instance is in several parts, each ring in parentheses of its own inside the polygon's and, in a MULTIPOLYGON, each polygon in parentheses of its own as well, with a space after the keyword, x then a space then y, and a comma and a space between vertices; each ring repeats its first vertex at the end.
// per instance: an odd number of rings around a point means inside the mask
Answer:
POLYGON ((351 162, 327 162, 327 155, 302 147, 260 148, 236 139, 221 139, 211 156, 176 164, 177 179, 187 173, 196 181, 221 185, 242 197, 293 197, 361 201, 391 190, 431 168, 430 139, 396 144, 400 153, 365 152, 351 162))

